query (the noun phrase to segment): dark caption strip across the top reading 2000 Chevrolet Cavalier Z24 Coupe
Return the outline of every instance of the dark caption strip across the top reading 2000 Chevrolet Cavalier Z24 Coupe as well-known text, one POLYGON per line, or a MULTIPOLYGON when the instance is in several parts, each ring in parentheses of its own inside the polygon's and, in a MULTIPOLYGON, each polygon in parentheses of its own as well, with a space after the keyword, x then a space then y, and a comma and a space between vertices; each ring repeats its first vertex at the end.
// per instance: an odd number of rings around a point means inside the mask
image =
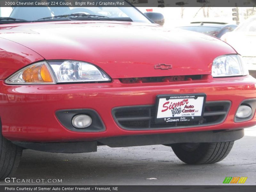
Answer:
POLYGON ((1 7, 255 7, 256 0, 0 0, 1 7), (7 3, 5 3, 7 2, 7 3), (13 4, 14 2, 14 4, 13 4), (76 3, 77 2, 77 3, 76 3), (85 4, 81 4, 84 2, 85 4), (87 4, 87 2, 89 2, 87 4), (100 2, 107 2, 101 4, 100 2), (27 4, 24 4, 27 3, 27 4))

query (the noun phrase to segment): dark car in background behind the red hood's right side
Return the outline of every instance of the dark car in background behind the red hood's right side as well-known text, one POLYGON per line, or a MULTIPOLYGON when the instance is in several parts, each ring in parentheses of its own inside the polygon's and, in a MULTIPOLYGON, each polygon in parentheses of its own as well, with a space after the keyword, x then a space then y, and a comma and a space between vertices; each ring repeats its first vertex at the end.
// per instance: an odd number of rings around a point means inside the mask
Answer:
POLYGON ((189 31, 208 34, 220 38, 227 32, 233 31, 237 25, 222 22, 191 22, 188 26, 178 27, 189 31))

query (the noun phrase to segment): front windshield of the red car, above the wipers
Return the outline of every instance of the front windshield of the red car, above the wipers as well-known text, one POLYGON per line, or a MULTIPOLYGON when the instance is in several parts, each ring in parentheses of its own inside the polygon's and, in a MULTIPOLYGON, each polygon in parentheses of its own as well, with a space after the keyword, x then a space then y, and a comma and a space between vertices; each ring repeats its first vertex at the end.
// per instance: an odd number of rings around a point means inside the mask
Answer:
MULTIPOLYGON (((30 0, 39 2, 40 0, 30 0)), ((122 2, 122 0, 120 1, 122 2)), ((126 3, 127 4, 127 3, 126 3)), ((127 4, 130 6, 130 4, 127 4)), ((134 22, 151 23, 136 8, 130 7, 12 7, 2 13, 1 17, 11 17, 28 21, 35 21, 46 17, 84 13, 88 15, 104 16, 104 18, 129 19, 134 22)), ((48 20, 47 20, 48 21, 48 20)))

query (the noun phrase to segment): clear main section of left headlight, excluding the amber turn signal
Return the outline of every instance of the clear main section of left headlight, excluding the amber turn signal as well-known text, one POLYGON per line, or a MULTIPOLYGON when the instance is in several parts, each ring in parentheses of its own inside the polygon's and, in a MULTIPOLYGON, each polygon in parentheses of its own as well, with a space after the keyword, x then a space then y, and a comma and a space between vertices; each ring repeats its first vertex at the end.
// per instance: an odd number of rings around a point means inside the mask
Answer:
POLYGON ((58 83, 110 81, 101 69, 82 61, 49 61, 58 83))

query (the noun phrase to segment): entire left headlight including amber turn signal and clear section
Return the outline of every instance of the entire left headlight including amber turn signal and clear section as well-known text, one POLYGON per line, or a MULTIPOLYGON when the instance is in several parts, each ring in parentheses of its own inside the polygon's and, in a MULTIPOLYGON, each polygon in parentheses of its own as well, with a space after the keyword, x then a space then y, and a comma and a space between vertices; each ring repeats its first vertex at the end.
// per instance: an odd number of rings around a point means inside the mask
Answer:
POLYGON ((5 80, 7 84, 56 84, 111 81, 100 68, 82 61, 43 61, 21 69, 5 80))

